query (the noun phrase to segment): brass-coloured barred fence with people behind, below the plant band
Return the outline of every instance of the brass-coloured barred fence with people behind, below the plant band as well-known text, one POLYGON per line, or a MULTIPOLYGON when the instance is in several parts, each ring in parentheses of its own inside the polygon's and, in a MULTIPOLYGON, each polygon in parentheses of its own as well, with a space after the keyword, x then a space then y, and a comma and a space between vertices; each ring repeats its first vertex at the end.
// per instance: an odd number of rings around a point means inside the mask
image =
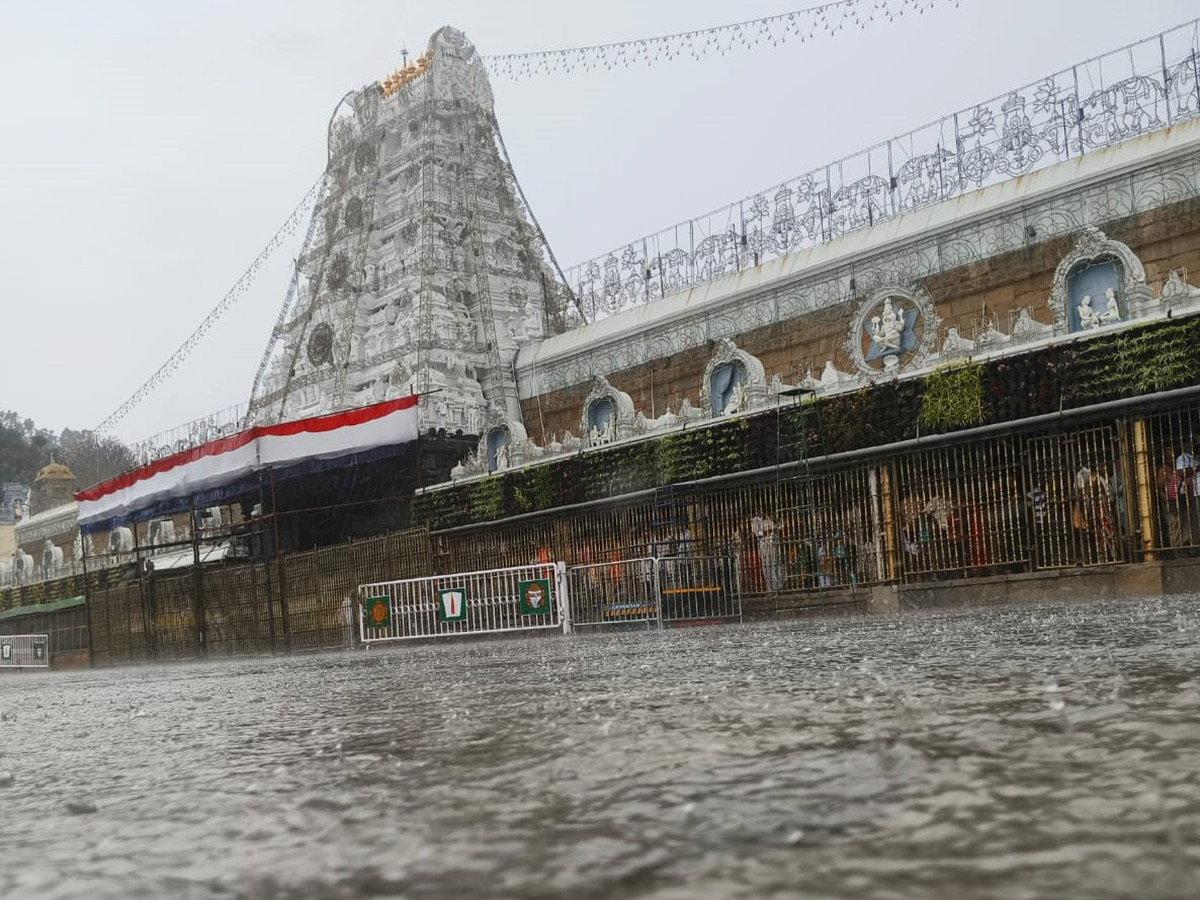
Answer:
POLYGON ((881 448, 852 463, 817 457, 810 478, 696 482, 670 510, 649 494, 617 497, 433 539, 449 563, 564 559, 572 587, 583 580, 581 624, 642 589, 642 558, 731 559, 744 598, 1122 565, 1200 556, 1198 451, 1200 406, 1188 402, 881 448))

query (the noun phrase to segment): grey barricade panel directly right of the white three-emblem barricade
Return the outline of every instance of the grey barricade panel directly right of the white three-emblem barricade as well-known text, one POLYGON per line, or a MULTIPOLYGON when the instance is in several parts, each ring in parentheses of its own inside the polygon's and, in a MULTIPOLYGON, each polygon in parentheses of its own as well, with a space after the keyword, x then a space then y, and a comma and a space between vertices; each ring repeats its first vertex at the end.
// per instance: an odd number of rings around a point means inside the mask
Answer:
POLYGON ((575 628, 661 628, 658 559, 617 559, 568 569, 575 628))

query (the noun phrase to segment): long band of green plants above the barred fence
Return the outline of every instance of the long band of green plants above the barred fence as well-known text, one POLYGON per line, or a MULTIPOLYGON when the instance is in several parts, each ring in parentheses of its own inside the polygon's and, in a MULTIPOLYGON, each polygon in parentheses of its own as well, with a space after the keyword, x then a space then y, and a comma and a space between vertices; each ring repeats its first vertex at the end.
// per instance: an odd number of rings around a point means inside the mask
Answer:
POLYGON ((492 521, 774 466, 780 445, 790 446, 793 458, 799 446, 809 455, 842 452, 906 440, 918 425, 944 430, 1016 421, 1198 382, 1200 317, 1176 319, 984 365, 942 366, 919 380, 809 398, 803 415, 767 409, 491 475, 419 496, 414 521, 431 528, 492 521))

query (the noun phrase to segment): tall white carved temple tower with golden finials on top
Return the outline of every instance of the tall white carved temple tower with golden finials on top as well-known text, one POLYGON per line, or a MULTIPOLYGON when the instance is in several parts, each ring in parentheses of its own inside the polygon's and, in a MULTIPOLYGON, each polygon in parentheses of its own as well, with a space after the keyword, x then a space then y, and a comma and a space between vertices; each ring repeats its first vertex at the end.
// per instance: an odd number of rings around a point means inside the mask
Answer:
POLYGON ((443 28, 348 94, 248 421, 420 392, 421 428, 521 422, 521 344, 578 323, 504 151, 484 62, 443 28))

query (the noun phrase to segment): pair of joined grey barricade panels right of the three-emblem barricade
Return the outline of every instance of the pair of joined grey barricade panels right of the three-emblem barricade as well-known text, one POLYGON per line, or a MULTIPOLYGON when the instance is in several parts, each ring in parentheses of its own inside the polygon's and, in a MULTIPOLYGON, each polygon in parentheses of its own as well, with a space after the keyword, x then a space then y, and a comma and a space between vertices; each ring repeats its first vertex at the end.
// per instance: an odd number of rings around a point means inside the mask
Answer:
POLYGON ((575 628, 742 620, 732 557, 644 557, 568 570, 575 628))

